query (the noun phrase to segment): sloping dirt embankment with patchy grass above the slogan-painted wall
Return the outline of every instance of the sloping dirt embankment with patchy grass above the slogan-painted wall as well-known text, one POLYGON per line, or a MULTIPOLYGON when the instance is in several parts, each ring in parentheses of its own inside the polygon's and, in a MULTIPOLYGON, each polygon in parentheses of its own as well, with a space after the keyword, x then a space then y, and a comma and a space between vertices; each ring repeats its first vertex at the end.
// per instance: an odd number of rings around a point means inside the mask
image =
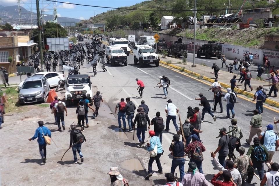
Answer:
MULTIPOLYGON (((194 30, 191 29, 167 29, 160 33, 179 35, 183 37, 194 37, 194 30)), ((228 44, 235 44, 244 47, 262 48, 266 34, 279 34, 279 28, 244 28, 238 29, 232 26, 231 29, 206 28, 196 30, 196 39, 216 41, 228 44)))

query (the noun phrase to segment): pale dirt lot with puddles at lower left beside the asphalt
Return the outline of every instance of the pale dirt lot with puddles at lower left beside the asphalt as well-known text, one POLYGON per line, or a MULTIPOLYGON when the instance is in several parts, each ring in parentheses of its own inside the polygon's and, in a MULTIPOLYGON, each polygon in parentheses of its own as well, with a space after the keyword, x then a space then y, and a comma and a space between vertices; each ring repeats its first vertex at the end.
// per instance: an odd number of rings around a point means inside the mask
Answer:
MULTIPOLYGON (((107 173, 112 166, 121 167, 120 172, 129 180, 130 185, 145 185, 146 181, 142 176, 146 175, 146 171, 137 157, 140 150, 131 143, 132 137, 128 139, 126 134, 117 128, 117 120, 110 114, 111 110, 105 102, 101 103, 100 115, 96 119, 89 118, 89 128, 85 128, 83 132, 87 142, 84 142, 81 148, 84 162, 81 163, 78 156, 78 164, 74 164, 71 149, 62 162, 60 161, 69 147, 69 126, 73 122, 77 123, 75 106, 68 108, 68 116, 65 117, 66 130, 63 132, 59 132, 58 126, 54 125, 49 107, 37 104, 24 107, 25 112, 7 116, 2 124, 2 186, 109 185, 110 178, 107 173), (33 137, 39 120, 44 121, 45 126, 51 130, 52 139, 57 144, 57 147, 54 143, 47 146, 46 164, 42 163, 37 141, 28 141, 28 138, 33 137)), ((92 111, 89 115, 92 115, 92 111)), ((132 133, 130 134, 132 136, 132 133)), ((164 184, 164 180, 157 182, 164 184)))

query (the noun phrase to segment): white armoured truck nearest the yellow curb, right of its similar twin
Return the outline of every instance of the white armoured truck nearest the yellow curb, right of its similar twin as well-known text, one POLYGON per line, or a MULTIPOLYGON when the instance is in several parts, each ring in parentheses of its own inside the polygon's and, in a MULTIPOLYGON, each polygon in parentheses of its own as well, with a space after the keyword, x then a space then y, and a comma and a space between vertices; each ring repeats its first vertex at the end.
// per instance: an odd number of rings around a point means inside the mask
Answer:
POLYGON ((140 63, 140 67, 143 67, 144 63, 153 64, 155 63, 156 67, 159 66, 160 58, 155 53, 152 47, 149 45, 135 45, 133 49, 134 53, 134 64, 140 63))

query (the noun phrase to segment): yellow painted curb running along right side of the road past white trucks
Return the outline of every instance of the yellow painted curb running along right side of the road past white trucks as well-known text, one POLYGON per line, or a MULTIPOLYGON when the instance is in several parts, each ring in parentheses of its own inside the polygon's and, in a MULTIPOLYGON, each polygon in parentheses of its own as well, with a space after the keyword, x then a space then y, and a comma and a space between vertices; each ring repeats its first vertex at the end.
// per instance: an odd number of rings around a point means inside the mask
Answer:
MULTIPOLYGON (((164 61, 161 61, 161 60, 160 60, 159 62, 162 63, 162 64, 164 64, 164 65, 167 65, 167 66, 173 67, 173 68, 175 68, 175 69, 178 69, 178 70, 182 70, 182 69, 183 69, 182 67, 178 67, 178 66, 176 66, 176 65, 168 64, 167 62, 164 62, 164 61)), ((206 77, 206 76, 200 75, 200 74, 195 73, 195 72, 193 72, 193 71, 190 71, 190 70, 187 70, 187 69, 184 69, 183 71, 186 72, 187 74, 192 75, 192 76, 202 77, 204 80, 209 81, 209 82, 211 82, 211 83, 214 82, 214 79, 211 79, 211 78, 208 78, 208 77, 206 77)), ((228 84, 226 84, 226 83, 221 83, 220 81, 218 81, 218 82, 220 83, 220 85, 221 85, 222 87, 230 88, 230 85, 228 85, 228 84)), ((251 92, 246 92, 246 91, 241 90, 241 89, 238 89, 238 88, 235 88, 234 90, 235 90, 235 92, 237 92, 237 93, 239 93, 239 94, 243 94, 243 95, 245 95, 245 96, 251 96, 252 98, 254 98, 254 94, 251 93, 251 92)), ((279 107, 279 103, 276 102, 276 101, 273 101, 273 100, 271 100, 271 99, 266 99, 265 103, 267 103, 267 104, 269 104, 269 105, 271 105, 271 106, 279 107)))

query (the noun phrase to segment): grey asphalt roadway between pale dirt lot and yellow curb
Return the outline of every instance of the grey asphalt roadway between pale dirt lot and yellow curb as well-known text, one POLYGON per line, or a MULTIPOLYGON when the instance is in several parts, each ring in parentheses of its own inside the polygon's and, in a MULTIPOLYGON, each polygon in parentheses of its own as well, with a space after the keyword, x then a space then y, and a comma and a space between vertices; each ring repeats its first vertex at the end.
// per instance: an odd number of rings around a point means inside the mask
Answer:
MULTIPOLYGON (((187 60, 190 61, 191 54, 188 56, 187 60)), ((197 62, 201 62, 201 59, 196 60, 197 62)), ((214 61, 219 60, 207 60, 208 64, 212 64, 214 61)), ((204 61, 203 61, 204 62, 204 61)), ((92 85, 97 86, 98 90, 103 95, 106 102, 112 112, 115 110, 115 106, 117 102, 120 101, 121 98, 130 97, 131 101, 135 103, 136 107, 140 105, 141 100, 144 100, 145 103, 149 106, 149 117, 152 119, 155 117, 155 113, 157 111, 161 112, 161 117, 166 120, 164 107, 167 104, 167 99, 164 99, 162 88, 159 89, 158 85, 159 76, 165 75, 169 77, 171 80, 171 86, 169 87, 169 95, 168 99, 172 99, 173 103, 179 109, 179 114, 181 115, 182 122, 185 121, 187 116, 187 107, 192 106, 193 108, 198 106, 200 101, 195 100, 198 97, 198 93, 202 92, 205 97, 210 100, 210 104, 213 107, 213 93, 208 91, 210 88, 209 85, 197 81, 196 79, 190 78, 178 72, 175 72, 171 69, 168 69, 162 65, 159 67, 155 67, 155 65, 148 65, 144 68, 139 68, 139 66, 135 66, 133 64, 133 55, 128 56, 128 66, 117 65, 115 67, 107 66, 108 71, 103 72, 101 69, 101 65, 97 67, 97 75, 93 76, 92 68, 86 69, 85 67, 81 68, 81 73, 89 74, 92 76, 92 85), (143 98, 140 99, 139 94, 137 92, 137 84, 135 78, 139 78, 145 84, 143 98)), ((251 116, 253 115, 252 110, 255 109, 255 103, 248 102, 244 99, 238 98, 238 102, 235 104, 235 118, 238 120, 238 126, 242 129, 244 133, 244 137, 241 142, 246 150, 248 150, 248 145, 245 143, 245 139, 248 139, 249 135, 249 123, 251 120, 251 116)), ((200 110, 202 110, 202 107, 200 110)), ((203 144, 206 148, 204 152, 204 161, 203 161, 203 171, 208 180, 210 180, 213 174, 217 174, 217 170, 213 169, 212 158, 210 157, 210 151, 215 151, 218 146, 218 139, 215 137, 219 135, 219 130, 222 127, 228 129, 230 126, 230 119, 226 118, 226 102, 223 102, 223 113, 215 112, 217 120, 214 122, 212 117, 207 113, 205 114, 204 123, 202 124, 201 130, 203 133, 200 134, 201 140, 203 140, 203 144)), ((219 106, 217 106, 217 111, 220 111, 219 106)), ((231 115, 231 113, 230 113, 231 115)), ((263 130, 266 130, 266 126, 270 123, 273 123, 273 117, 278 118, 278 113, 273 112, 272 110, 264 109, 263 116, 263 130)), ((117 117, 117 115, 116 115, 117 117)), ((176 120, 179 123, 178 118, 176 120)), ((153 127, 151 127, 153 129, 153 127)), ((121 132, 119 132, 121 133, 121 132)), ((169 145, 172 140, 172 136, 175 133, 175 128, 172 122, 170 123, 170 131, 165 132, 163 134, 163 149, 165 151, 164 155, 161 158, 163 172, 169 172, 171 168, 171 156, 168 151, 169 145)), ((133 140, 133 133, 126 133, 128 136, 128 141, 125 142, 131 146, 136 146, 139 144, 137 137, 135 136, 135 140, 133 140)), ((148 140, 148 133, 146 132, 145 141, 148 140)), ((137 146, 138 147, 138 146, 137 146)), ((142 153, 138 154, 138 158, 141 160, 144 168, 147 168, 147 161, 145 159, 146 150, 142 149, 142 153)), ((278 152, 276 152, 278 153, 278 152)), ((235 155, 239 155, 235 151, 235 155)), ((278 162, 279 156, 273 156, 273 162, 278 162)), ((185 163, 185 170, 188 168, 187 160, 185 163)), ((267 167, 265 167, 267 170, 267 167)), ((156 164, 153 164, 153 170, 157 171, 156 164)), ((178 168, 176 172, 179 175, 178 168)), ((163 175, 153 174, 151 180, 154 179, 165 179, 163 175)), ((252 183, 259 184, 260 182, 254 178, 252 183)), ((155 181, 154 181, 155 183, 155 181)))

